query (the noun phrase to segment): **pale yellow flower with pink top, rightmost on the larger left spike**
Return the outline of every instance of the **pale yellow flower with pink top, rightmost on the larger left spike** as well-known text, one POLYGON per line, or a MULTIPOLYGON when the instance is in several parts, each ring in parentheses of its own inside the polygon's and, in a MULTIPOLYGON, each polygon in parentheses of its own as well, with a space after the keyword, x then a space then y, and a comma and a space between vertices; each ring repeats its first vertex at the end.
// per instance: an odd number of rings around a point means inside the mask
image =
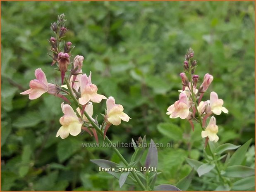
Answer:
POLYGON ((114 126, 118 126, 121 120, 128 122, 131 118, 125 114, 124 107, 120 104, 115 104, 114 97, 108 97, 107 100, 107 119, 114 126))

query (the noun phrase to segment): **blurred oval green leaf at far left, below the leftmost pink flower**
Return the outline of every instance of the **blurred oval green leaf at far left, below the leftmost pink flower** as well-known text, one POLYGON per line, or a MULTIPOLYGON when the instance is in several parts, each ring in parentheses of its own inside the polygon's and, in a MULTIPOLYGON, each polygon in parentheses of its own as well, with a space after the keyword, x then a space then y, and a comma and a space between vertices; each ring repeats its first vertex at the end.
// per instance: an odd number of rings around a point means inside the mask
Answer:
POLYGON ((17 128, 29 128, 36 126, 42 120, 38 112, 29 111, 26 114, 19 116, 14 122, 13 126, 17 128))

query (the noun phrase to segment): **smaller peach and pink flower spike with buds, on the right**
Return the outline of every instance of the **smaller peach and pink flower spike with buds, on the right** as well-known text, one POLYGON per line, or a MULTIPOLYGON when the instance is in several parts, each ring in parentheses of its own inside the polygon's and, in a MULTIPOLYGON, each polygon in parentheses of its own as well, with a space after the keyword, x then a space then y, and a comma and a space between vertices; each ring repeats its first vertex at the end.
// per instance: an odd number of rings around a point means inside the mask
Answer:
POLYGON ((219 137, 218 126, 213 114, 220 115, 221 112, 228 113, 228 110, 223 107, 223 100, 218 98, 216 92, 210 93, 210 100, 201 101, 204 93, 213 81, 213 76, 206 73, 203 82, 200 85, 199 76, 195 74, 197 61, 194 58, 194 51, 189 48, 185 55, 184 72, 180 73, 182 80, 182 90, 179 94, 179 100, 167 108, 167 115, 170 118, 187 119, 194 130, 193 120, 201 124, 201 136, 206 137, 207 141, 217 142, 219 137), (210 118, 210 122, 206 127, 206 121, 210 118), (206 127, 206 128, 205 128, 206 127))

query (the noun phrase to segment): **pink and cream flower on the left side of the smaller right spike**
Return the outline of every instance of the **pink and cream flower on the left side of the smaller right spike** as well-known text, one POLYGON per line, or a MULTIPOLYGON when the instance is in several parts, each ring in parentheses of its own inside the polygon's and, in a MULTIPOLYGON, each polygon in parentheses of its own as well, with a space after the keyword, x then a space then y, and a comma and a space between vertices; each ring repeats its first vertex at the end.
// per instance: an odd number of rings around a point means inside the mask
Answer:
POLYGON ((179 94, 179 100, 172 104, 167 109, 167 115, 170 115, 170 118, 186 119, 189 116, 189 99, 185 92, 179 94))

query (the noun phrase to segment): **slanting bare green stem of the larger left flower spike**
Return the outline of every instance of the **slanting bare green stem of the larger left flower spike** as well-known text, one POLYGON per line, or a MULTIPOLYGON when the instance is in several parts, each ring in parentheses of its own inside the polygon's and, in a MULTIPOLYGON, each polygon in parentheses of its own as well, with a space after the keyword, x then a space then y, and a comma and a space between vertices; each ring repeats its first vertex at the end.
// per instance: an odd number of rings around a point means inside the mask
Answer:
MULTIPOLYGON (((72 92, 72 88, 69 84, 69 81, 67 79, 67 77, 64 78, 65 82, 67 84, 67 88, 70 92, 70 96, 72 97, 72 99, 74 100, 74 102, 76 103, 76 105, 82 109, 81 104, 79 104, 76 96, 74 95, 74 93, 72 92)), ((96 123, 91 119, 91 117, 89 116, 89 114, 87 114, 86 111, 84 111, 84 115, 86 116, 86 118, 90 121, 91 125, 96 129, 96 131, 103 137, 104 133, 102 132, 102 130, 100 130, 99 126, 96 125, 96 123)), ((111 145, 112 149, 114 149, 115 153, 117 154, 117 156, 119 156, 119 158, 122 160, 122 162, 124 163, 125 166, 128 166, 129 163, 124 159, 124 157, 122 156, 122 154, 118 151, 118 149, 116 147, 114 147, 113 143, 110 141, 110 139, 105 136, 105 140, 111 145)), ((146 187, 143 185, 143 183, 141 182, 141 180, 139 179, 138 175, 134 172, 131 172, 132 175, 134 176, 135 180, 137 181, 137 183, 140 185, 140 187, 143 190, 147 190, 146 187)))

